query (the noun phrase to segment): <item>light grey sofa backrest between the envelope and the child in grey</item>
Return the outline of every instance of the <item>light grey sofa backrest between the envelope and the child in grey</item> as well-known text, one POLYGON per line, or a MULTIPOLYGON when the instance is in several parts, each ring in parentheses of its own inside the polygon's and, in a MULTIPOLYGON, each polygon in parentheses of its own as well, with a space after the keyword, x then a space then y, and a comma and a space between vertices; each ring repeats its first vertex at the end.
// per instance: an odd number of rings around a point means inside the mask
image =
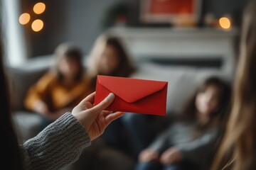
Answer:
POLYGON ((178 113, 189 96, 196 91, 204 79, 218 76, 232 81, 231 75, 224 74, 221 69, 207 69, 186 66, 165 66, 161 64, 140 64, 132 75, 138 79, 168 81, 166 113, 178 113))

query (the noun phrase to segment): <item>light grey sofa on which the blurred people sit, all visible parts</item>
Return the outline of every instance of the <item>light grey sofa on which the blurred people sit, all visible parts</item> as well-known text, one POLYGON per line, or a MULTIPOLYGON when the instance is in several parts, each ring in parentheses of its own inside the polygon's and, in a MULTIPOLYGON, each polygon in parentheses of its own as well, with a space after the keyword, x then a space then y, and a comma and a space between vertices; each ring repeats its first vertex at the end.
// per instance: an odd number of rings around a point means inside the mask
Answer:
MULTIPOLYGON (((87 57, 84 64, 86 66, 87 57)), ((35 57, 18 67, 8 67, 9 84, 11 91, 11 109, 17 134, 20 142, 37 135, 41 130, 42 118, 36 113, 26 111, 23 99, 28 88, 34 84, 54 64, 54 57, 46 55, 35 57)), ((154 62, 137 62, 137 72, 132 77, 139 79, 154 79, 168 81, 168 94, 166 113, 177 113, 186 98, 193 93, 196 86, 209 77, 218 75, 233 81, 233 75, 225 74, 220 69, 198 68, 188 66, 161 65, 154 62)), ((161 125, 161 123, 159 123, 161 125)), ((85 149, 80 159, 65 167, 65 170, 73 169, 133 169, 134 159, 129 155, 105 146, 99 138, 92 142, 92 146, 85 149)))

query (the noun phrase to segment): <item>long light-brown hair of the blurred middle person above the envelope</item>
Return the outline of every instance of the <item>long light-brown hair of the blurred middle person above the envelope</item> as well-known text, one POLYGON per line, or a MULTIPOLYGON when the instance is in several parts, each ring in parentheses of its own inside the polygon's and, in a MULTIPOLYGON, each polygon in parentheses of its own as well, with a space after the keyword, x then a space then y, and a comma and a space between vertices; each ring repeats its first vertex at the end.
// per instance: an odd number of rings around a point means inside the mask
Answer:
POLYGON ((107 45, 114 47, 117 51, 117 57, 119 57, 119 64, 117 68, 109 76, 129 77, 134 72, 135 67, 129 58, 128 52, 119 38, 106 34, 100 35, 97 40, 95 40, 95 44, 90 52, 88 62, 88 74, 90 74, 90 77, 96 77, 97 74, 100 74, 99 61, 102 52, 107 45))

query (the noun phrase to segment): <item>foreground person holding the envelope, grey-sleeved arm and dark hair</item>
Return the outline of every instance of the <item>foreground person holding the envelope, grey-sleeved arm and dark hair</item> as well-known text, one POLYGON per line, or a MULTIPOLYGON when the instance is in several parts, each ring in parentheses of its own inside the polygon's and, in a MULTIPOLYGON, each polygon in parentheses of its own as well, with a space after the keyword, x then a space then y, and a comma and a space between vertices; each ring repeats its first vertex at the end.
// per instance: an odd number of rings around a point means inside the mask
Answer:
POLYGON ((112 120, 123 115, 120 112, 103 111, 114 100, 113 94, 94 106, 95 93, 92 93, 80 101, 71 113, 60 116, 36 137, 19 145, 9 107, 9 89, 3 53, 2 40, 0 40, 0 130, 1 144, 6 147, 1 152, 4 155, 1 158, 1 166, 5 169, 62 169, 75 162, 85 147, 102 135, 112 120))

